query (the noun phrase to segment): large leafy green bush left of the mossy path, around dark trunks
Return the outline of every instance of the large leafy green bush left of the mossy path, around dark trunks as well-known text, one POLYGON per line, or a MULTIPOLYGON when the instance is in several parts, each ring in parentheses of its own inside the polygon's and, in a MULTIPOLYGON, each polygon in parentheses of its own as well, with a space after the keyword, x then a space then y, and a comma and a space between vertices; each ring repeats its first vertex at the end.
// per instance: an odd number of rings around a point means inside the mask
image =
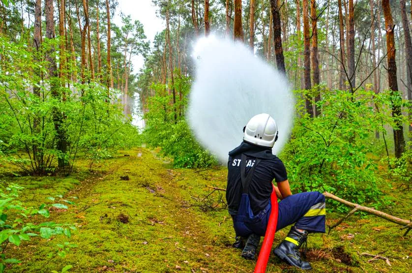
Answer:
MULTIPOLYGON (((0 162, 28 174, 68 175, 78 152, 90 159, 91 167, 113 150, 134 145, 138 136, 131 119, 122 114, 116 90, 108 93, 95 82, 46 76, 50 63, 36 56, 58 42, 46 39, 39 52, 31 52, 0 36, 0 53, 8 61, 0 73, 0 162)), ((68 63, 65 72, 75 69, 68 63)))

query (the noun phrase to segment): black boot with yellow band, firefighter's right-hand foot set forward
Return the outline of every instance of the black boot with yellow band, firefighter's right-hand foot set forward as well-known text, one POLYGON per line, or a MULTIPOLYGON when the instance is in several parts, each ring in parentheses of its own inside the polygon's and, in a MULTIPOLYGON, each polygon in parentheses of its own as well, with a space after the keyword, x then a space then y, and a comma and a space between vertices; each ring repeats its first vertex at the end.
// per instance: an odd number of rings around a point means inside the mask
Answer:
POLYGON ((288 264, 303 270, 311 270, 312 267, 306 261, 300 258, 299 247, 306 244, 308 233, 300 233, 293 226, 288 236, 276 246, 273 253, 288 264))

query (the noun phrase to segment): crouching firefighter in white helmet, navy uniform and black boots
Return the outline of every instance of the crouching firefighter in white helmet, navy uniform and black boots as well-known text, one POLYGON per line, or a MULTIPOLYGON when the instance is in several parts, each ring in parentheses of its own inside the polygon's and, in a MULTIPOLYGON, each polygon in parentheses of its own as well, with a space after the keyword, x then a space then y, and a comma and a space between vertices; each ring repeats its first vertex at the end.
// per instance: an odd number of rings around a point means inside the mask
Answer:
POLYGON ((308 233, 325 232, 325 200, 320 192, 292 194, 283 162, 272 154, 278 138, 276 122, 268 114, 254 116, 243 128, 243 142, 229 152, 226 200, 236 233, 234 247, 242 257, 254 259, 260 237, 265 236, 271 212, 272 181, 277 183, 276 230, 294 224, 274 254, 292 266, 312 269, 302 261, 299 248, 308 233), (244 243, 244 241, 246 243, 244 243))

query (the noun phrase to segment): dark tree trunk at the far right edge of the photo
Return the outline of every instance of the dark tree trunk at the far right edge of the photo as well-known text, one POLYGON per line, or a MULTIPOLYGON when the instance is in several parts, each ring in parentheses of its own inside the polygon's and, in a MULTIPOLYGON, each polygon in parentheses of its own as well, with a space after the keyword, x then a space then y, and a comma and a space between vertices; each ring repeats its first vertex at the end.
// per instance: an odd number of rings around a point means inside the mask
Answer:
MULTIPOLYGON (((411 33, 409 32, 409 21, 408 15, 406 13, 406 5, 405 0, 400 0, 401 5, 401 16, 402 16, 402 26, 404 28, 405 34, 405 52, 407 55, 406 58, 406 71, 407 71, 407 93, 408 93, 408 100, 412 103, 412 43, 411 43, 411 33)), ((411 7, 412 10, 412 7, 411 7)), ((409 115, 411 118, 411 106, 410 106, 409 115)), ((409 124, 409 131, 412 131, 412 124, 409 124)))

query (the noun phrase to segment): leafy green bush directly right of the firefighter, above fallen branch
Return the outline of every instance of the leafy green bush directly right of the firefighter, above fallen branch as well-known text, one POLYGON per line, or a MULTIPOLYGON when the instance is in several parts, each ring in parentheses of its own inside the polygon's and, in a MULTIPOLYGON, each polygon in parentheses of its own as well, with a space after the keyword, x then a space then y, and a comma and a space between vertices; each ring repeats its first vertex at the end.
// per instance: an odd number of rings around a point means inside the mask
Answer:
MULTIPOLYGON (((296 93, 310 95, 311 91, 296 93)), ((386 203, 377 186, 377 163, 371 158, 370 139, 382 124, 393 124, 388 113, 388 93, 325 91, 318 107, 322 114, 310 118, 305 100, 297 96, 298 117, 291 140, 280 155, 296 191, 329 191, 355 203, 386 203), (376 111, 378 106, 380 111, 376 111)), ((338 207, 339 210, 347 210, 338 207)))

